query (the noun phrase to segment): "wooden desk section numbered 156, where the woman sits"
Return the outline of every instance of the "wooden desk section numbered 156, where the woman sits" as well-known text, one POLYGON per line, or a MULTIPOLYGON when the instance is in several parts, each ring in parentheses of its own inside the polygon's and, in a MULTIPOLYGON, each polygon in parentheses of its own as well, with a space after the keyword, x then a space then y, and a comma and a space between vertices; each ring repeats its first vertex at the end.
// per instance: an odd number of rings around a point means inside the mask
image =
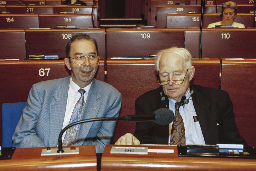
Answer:
MULTIPOLYGON (((209 24, 221 21, 219 14, 204 14, 202 27, 208 27, 209 24)), ((237 14, 235 22, 242 23, 245 27, 253 27, 253 14, 237 14)), ((201 25, 201 14, 167 14, 167 28, 189 28, 201 25), (194 18, 194 19, 193 19, 194 18)))

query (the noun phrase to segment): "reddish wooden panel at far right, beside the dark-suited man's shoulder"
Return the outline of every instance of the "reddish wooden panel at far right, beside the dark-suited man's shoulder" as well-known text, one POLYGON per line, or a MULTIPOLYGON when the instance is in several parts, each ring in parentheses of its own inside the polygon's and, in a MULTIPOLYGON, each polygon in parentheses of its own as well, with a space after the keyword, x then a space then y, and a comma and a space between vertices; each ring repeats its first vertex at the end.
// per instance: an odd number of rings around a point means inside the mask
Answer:
POLYGON ((256 146, 256 60, 222 58, 221 89, 229 93, 236 114, 236 124, 248 146, 256 146))

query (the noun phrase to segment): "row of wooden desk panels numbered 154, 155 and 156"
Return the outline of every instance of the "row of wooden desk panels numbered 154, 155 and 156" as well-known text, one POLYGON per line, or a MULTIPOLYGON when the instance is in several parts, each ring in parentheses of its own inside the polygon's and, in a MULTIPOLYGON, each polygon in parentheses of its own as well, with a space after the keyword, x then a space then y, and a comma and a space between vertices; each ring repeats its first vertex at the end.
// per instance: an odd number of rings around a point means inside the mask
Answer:
MULTIPOLYGON (((94 14, 93 17, 95 21, 94 14)), ((254 22, 253 17, 254 14, 249 13, 237 14, 235 21, 243 23, 246 28, 252 28, 254 22)), ((254 20, 256 20, 256 17, 254 20)), ((207 27, 210 23, 217 21, 220 21, 220 14, 204 14, 202 27, 207 27)), ((4 23, 0 25, 2 29, 56 28, 61 25, 75 28, 93 27, 91 14, 0 14, 0 22, 4 23)), ((97 24, 97 22, 95 22, 95 24, 97 24)), ((165 27, 199 28, 200 24, 201 14, 167 14, 165 27)))

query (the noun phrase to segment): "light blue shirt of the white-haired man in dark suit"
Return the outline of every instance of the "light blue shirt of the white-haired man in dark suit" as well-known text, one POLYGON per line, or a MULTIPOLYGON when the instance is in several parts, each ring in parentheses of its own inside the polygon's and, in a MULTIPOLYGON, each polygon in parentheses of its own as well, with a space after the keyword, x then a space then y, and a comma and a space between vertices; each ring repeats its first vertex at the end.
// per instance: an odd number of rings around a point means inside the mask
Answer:
MULTIPOLYGON (((186 99, 188 99, 189 96, 190 96, 190 89, 186 94, 186 99)), ((170 99, 170 98, 168 99, 169 99, 169 109, 172 110, 173 113, 175 114, 176 101, 174 99, 170 99)), ((188 104, 186 104, 184 107, 180 106, 179 112, 184 122, 185 134, 186 134, 186 145, 187 144, 205 144, 199 121, 194 122, 193 116, 197 116, 197 115, 195 112, 192 97, 190 97, 188 104)), ((170 144, 171 129, 172 129, 172 122, 169 124, 168 144, 170 144)))

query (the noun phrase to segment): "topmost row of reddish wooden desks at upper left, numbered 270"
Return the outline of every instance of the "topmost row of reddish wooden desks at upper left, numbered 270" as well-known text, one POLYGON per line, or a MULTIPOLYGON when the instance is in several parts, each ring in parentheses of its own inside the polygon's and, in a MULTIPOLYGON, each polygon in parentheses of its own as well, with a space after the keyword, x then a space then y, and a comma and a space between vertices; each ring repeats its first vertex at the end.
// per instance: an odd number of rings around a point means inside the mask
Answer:
MULTIPOLYGON (((63 5, 65 0, 23 0, 27 5, 63 5)), ((93 0, 82 0, 87 5, 92 5, 93 0)), ((20 0, 1 0, 0 5, 23 5, 20 0)), ((98 0, 95 0, 95 4, 98 6, 98 0)))

